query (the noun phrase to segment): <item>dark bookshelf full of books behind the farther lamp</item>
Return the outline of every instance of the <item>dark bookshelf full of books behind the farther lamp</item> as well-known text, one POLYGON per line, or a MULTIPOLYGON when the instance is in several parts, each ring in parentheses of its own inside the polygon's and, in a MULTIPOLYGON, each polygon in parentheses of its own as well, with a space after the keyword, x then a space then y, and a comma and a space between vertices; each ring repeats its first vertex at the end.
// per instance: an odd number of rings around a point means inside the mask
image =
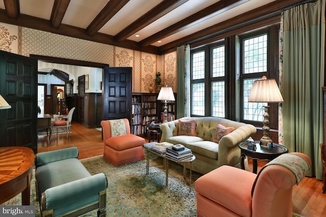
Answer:
MULTIPOLYGON (((157 100, 157 96, 157 93, 132 93, 132 134, 145 135, 147 125, 152 119, 164 119, 164 102, 157 100)), ((167 102, 167 111, 168 121, 174 120, 175 101, 167 102)))

